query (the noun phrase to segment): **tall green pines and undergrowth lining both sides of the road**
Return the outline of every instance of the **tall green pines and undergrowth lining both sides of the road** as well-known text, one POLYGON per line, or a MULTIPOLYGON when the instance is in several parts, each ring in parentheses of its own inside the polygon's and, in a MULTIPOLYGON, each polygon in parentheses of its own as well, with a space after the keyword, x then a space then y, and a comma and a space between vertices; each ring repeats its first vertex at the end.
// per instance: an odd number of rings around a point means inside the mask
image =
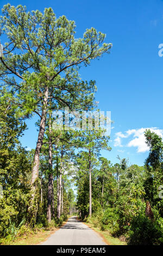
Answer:
POLYGON ((89 127, 89 113, 99 111, 96 82, 83 81, 78 71, 112 44, 95 28, 75 38, 74 21, 57 19, 52 8, 28 12, 7 4, 2 13, 0 243, 78 215, 129 245, 162 245, 162 138, 146 130, 144 166, 119 156, 112 164, 110 137, 96 129, 95 118, 89 127), (65 107, 72 113, 68 125, 65 107), (57 111, 64 118, 55 126, 57 111), (76 111, 80 129, 70 129, 76 111), (20 140, 36 115, 36 148, 27 150, 20 140))

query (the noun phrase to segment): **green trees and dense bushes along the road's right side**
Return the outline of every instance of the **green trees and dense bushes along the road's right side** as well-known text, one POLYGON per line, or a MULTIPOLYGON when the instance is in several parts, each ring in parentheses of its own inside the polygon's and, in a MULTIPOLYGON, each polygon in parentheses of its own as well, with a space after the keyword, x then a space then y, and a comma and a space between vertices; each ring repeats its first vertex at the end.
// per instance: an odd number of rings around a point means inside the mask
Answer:
POLYGON ((99 158, 92 166, 92 216, 89 215, 89 172, 80 161, 77 205, 82 219, 108 231, 128 245, 162 245, 162 154, 161 137, 145 132, 149 156, 145 166, 129 165, 120 159, 112 165, 99 158), (82 168, 83 167, 83 168, 82 168))

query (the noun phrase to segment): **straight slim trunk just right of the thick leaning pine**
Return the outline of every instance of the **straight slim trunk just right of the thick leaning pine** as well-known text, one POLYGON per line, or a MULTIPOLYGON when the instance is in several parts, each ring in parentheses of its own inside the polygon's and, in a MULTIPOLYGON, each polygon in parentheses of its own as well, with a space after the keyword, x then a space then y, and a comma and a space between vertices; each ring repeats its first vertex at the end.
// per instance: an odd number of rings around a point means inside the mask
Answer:
POLYGON ((51 222, 52 216, 52 191, 53 191, 53 163, 52 163, 52 119, 49 114, 49 177, 48 177, 48 203, 47 203, 47 220, 51 222))

